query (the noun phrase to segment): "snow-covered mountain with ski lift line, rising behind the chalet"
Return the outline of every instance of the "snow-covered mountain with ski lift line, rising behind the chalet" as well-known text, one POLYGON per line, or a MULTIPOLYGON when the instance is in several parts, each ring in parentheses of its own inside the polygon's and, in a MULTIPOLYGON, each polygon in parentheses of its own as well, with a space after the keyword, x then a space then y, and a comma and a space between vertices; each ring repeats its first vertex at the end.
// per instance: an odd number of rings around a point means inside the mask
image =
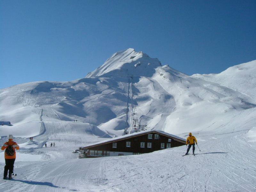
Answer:
MULTIPOLYGON (((247 71, 241 76, 244 82, 250 70, 254 71, 255 61, 249 64, 249 68, 247 64, 239 65, 243 70, 238 72, 247 71)), ((50 139, 65 138, 65 134, 74 131, 71 123, 76 119, 79 140, 88 134, 97 140, 122 135, 124 130, 135 131, 134 119, 138 119, 136 126, 144 124, 148 129, 172 134, 199 131, 211 124, 214 124, 211 129, 215 129, 218 126, 213 116, 230 119, 255 107, 254 98, 244 94, 246 90, 255 89, 253 78, 243 90, 236 90, 218 83, 215 77, 209 81, 208 76, 188 76, 129 48, 114 53, 82 79, 39 81, 1 89, 0 120, 11 121, 11 132, 18 132, 17 136, 33 134, 50 139), (134 110, 136 116, 133 116, 134 110), (204 110, 211 116, 205 115, 204 110), (201 116, 205 116, 204 121, 201 116), (66 127, 66 131, 60 129, 61 126, 66 127), (19 131, 21 127, 27 130, 26 134, 19 131), (31 127, 34 127, 33 133, 31 127), (86 131, 82 127, 87 127, 86 131)), ((227 82, 235 84, 232 83, 235 80, 230 78, 227 82)), ((5 127, 0 127, 0 131, 0 136, 10 132, 5 127)))

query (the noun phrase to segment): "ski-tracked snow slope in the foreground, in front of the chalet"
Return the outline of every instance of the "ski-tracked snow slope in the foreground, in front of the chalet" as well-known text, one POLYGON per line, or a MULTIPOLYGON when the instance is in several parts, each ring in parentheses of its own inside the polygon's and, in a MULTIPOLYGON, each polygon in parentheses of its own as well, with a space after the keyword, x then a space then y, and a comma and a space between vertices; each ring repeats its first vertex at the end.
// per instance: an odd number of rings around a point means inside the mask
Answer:
POLYGON ((246 135, 256 112, 249 111, 241 114, 246 124, 235 132, 199 132, 196 156, 182 157, 186 146, 181 146, 134 156, 16 162, 18 176, 0 181, 0 190, 253 192, 255 146, 246 135))

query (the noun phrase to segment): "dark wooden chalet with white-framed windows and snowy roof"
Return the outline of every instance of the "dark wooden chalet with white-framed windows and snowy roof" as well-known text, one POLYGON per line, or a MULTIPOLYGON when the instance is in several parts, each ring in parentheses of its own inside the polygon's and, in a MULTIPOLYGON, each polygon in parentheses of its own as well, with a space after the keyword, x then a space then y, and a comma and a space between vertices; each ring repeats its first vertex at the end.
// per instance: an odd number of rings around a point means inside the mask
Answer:
POLYGON ((85 146, 82 149, 86 155, 79 156, 79 158, 138 155, 185 144, 186 140, 183 138, 163 131, 150 130, 135 132, 85 146))

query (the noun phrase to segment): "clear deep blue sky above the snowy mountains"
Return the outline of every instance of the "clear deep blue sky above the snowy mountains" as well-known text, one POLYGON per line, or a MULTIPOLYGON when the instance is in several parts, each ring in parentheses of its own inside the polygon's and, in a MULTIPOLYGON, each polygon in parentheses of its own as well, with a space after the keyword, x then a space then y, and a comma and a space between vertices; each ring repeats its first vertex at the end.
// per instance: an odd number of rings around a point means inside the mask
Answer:
POLYGON ((256 59, 256 1, 0 2, 0 88, 83 78, 127 48, 220 73, 256 59))

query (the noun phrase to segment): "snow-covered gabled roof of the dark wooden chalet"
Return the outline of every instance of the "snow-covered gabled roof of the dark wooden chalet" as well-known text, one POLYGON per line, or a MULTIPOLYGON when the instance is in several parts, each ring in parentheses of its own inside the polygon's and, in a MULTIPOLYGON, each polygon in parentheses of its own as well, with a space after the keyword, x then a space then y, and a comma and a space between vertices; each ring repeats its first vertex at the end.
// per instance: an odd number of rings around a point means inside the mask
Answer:
POLYGON ((185 139, 183 139, 181 137, 178 137, 176 135, 172 135, 172 134, 164 132, 164 131, 149 130, 149 131, 135 132, 135 133, 127 134, 127 135, 122 135, 122 136, 119 136, 119 137, 114 137, 114 138, 111 138, 111 139, 103 140, 103 141, 100 141, 100 142, 97 142, 97 143, 94 143, 94 144, 91 144, 91 145, 84 146, 83 148, 96 147, 98 145, 102 145, 102 144, 106 144, 106 143, 112 143, 114 141, 124 140, 124 139, 127 139, 127 138, 132 138, 132 137, 145 135, 145 134, 149 134, 149 133, 158 133, 160 135, 170 137, 173 140, 177 140, 177 141, 180 141, 182 143, 186 143, 185 139))

